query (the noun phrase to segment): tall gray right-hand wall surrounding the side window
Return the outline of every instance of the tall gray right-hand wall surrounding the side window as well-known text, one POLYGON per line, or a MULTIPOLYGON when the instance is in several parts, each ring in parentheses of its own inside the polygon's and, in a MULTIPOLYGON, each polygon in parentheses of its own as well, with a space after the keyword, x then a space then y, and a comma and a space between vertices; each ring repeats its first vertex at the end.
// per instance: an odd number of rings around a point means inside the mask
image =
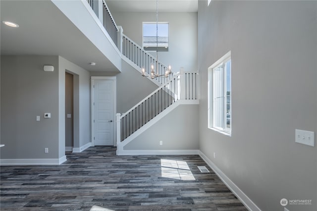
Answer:
POLYGON ((316 136, 316 18, 317 1, 199 1, 200 150, 264 211, 317 210, 317 147, 295 143, 316 136), (207 70, 230 50, 228 137, 208 129, 207 70))

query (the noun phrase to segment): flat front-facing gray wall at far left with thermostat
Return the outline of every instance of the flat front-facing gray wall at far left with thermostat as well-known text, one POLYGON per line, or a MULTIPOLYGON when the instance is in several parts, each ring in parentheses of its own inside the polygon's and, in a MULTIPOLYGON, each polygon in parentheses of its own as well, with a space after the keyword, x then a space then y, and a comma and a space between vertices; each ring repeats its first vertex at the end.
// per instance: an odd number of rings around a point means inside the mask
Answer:
POLYGON ((1 56, 2 159, 60 158, 56 69, 58 56, 1 56), (43 71, 44 64, 55 71, 43 71), (44 119, 45 112, 52 118, 44 119))

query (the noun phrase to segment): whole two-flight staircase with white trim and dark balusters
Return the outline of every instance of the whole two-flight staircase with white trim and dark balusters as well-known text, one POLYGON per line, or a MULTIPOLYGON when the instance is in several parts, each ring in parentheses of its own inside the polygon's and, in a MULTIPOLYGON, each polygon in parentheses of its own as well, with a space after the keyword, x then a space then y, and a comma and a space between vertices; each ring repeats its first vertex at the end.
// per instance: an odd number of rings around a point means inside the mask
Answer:
MULTIPOLYGON (((93 0, 87 0, 94 9, 93 0)), ((145 69, 146 75, 151 73, 151 64, 158 67, 157 73, 164 75, 168 69, 162 62, 157 61, 150 53, 123 34, 122 27, 117 26, 106 5, 102 1, 103 25, 114 45, 122 53, 121 58, 140 72, 145 69)), ((124 154, 123 147, 134 138, 147 130, 154 123, 181 104, 199 104, 197 72, 180 72, 151 79, 158 88, 141 102, 131 107, 127 112, 116 114, 117 155, 124 154)))

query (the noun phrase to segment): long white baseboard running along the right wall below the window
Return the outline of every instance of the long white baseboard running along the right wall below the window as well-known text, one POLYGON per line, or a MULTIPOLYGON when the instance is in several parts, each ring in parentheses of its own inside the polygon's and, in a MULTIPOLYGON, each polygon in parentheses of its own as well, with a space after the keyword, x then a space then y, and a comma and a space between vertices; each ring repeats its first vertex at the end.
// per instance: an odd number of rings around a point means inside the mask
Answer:
POLYGON ((251 199, 240 190, 207 156, 199 151, 199 156, 211 167, 213 172, 221 179, 221 181, 231 190, 231 192, 242 202, 249 211, 261 211, 251 199))

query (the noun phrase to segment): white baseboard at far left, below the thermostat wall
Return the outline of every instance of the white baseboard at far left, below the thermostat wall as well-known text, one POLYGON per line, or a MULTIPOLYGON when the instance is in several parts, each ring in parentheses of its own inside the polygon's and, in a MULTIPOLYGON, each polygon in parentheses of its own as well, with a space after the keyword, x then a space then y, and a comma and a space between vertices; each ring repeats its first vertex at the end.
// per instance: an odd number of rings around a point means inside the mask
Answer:
POLYGON ((66 156, 58 159, 0 159, 1 165, 60 165, 66 156))

